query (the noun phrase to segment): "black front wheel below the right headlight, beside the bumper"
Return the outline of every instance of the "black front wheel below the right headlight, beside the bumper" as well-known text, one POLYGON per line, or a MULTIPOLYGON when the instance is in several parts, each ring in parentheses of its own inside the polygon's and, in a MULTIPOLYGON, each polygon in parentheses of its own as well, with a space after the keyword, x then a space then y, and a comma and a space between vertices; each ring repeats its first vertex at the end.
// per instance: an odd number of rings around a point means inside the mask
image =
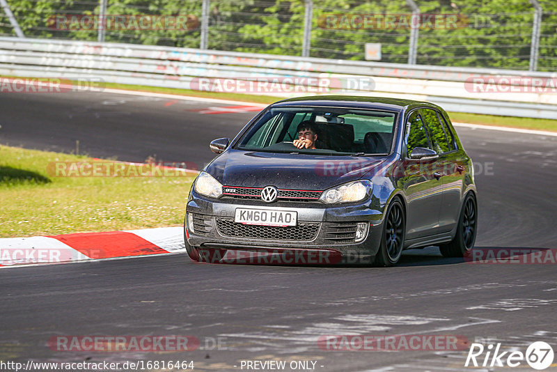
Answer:
POLYGON ((398 263, 405 243, 406 216, 402 203, 394 199, 387 209, 383 222, 383 235, 379 251, 375 255, 375 266, 393 266, 398 263))

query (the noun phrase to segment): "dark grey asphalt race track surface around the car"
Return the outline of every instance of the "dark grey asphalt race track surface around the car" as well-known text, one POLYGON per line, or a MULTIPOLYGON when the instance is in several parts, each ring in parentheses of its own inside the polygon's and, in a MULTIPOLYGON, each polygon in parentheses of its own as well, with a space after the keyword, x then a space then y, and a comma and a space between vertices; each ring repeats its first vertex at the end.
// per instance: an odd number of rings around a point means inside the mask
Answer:
MULTIPOLYGON (((2 93, 0 143, 71 152, 79 140, 80 153, 95 157, 142 162, 156 155, 201 168, 212 158, 209 141, 233 137, 255 114, 195 111, 207 107, 226 105, 2 93)), ((476 163, 476 247, 555 249, 557 137, 457 131, 476 163)), ((241 369, 242 361, 276 359, 314 361, 324 372, 473 371, 464 367, 468 348, 331 351, 317 339, 462 335, 521 352, 545 341, 557 352, 556 267, 473 264, 430 247, 406 251, 395 268, 208 265, 169 255, 0 270, 0 360, 173 360, 194 361, 194 371, 254 371, 241 369), (189 335, 201 347, 154 353, 47 346, 52 336, 74 335, 189 335)), ((512 370, 532 371, 526 362, 512 370)))

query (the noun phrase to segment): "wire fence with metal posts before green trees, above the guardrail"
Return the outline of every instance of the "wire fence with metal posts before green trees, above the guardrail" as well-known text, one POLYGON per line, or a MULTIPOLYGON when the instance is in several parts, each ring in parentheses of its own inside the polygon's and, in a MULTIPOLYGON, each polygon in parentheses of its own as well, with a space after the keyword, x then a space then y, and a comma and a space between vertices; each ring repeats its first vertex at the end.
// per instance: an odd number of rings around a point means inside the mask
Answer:
POLYGON ((22 34, 19 36, 28 38, 104 40, 391 63, 557 70, 554 0, 0 0, 0 3, 4 8, 0 16, 3 36, 17 36, 19 27, 22 34))

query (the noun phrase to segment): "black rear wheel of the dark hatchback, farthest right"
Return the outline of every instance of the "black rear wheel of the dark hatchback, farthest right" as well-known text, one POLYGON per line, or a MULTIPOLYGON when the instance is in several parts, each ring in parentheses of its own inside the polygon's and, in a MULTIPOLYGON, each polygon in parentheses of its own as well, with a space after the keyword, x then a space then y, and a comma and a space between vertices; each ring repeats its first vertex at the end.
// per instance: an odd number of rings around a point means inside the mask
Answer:
POLYGON ((473 194, 468 194, 462 203, 455 238, 447 244, 440 245, 439 251, 445 257, 464 257, 474 247, 477 231, 478 203, 473 194))

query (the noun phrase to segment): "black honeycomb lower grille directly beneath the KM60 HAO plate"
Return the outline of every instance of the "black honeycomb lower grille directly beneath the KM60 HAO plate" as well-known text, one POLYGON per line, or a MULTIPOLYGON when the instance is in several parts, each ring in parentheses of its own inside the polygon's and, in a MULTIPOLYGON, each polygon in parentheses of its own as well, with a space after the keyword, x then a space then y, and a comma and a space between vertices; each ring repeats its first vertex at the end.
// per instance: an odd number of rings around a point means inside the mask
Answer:
POLYGON ((228 217, 215 219, 219 233, 230 238, 314 240, 320 226, 319 222, 298 222, 297 226, 258 226, 238 224, 228 217))

